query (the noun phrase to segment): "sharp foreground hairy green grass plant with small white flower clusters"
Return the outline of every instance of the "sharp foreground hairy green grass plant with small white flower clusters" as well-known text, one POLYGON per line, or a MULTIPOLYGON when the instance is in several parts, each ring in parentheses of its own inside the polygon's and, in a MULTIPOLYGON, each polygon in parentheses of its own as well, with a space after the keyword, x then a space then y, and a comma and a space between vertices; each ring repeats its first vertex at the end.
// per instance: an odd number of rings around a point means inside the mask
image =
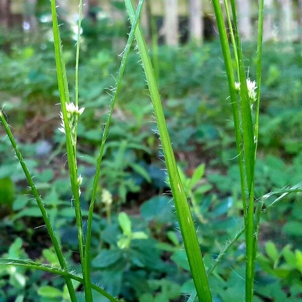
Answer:
MULTIPOLYGON (((259 129, 263 0, 259 0, 256 81, 252 81, 250 79, 247 79, 246 77, 243 54, 241 49, 241 42, 240 42, 240 37, 237 27, 235 1, 231 0, 234 29, 232 25, 233 23, 231 22, 231 11, 229 10, 228 0, 223 0, 223 2, 225 6, 226 17, 228 19, 228 24, 230 27, 230 38, 233 46, 233 54, 237 67, 236 72, 234 72, 233 69, 231 49, 230 49, 228 36, 224 24, 224 17, 221 10, 221 4, 219 0, 212 0, 218 31, 219 31, 223 57, 224 57, 226 75, 228 78, 228 83, 230 88, 231 104, 233 108, 235 138, 236 138, 236 145, 237 145, 237 152, 238 152, 238 162, 239 162, 240 179, 241 179, 241 193, 242 193, 243 210, 244 210, 244 228, 240 230, 237 236, 232 241, 230 241, 229 245, 227 245, 225 249, 221 251, 214 264, 209 269, 205 270, 202 254, 200 251, 200 246, 194 228, 193 218, 190 211, 190 206, 187 201, 185 190, 183 188, 179 176, 179 172, 177 169, 176 160, 174 157, 173 148, 168 133, 163 107, 160 99, 160 94, 157 86, 157 82, 158 82, 157 75, 155 75, 155 71, 148 54, 146 42, 138 22, 143 0, 139 0, 136 13, 134 13, 131 0, 125 0, 126 9, 130 17, 130 22, 132 27, 129 33, 125 50, 123 52, 122 61, 119 69, 119 75, 118 75, 115 89, 113 90, 113 95, 109 106, 109 114, 103 132, 99 157, 97 160, 96 175, 94 178, 94 184, 92 188, 92 198, 89 208, 88 228, 87 228, 86 238, 84 238, 84 233, 83 233, 83 221, 82 221, 82 213, 81 213, 81 206, 80 206, 80 199, 79 199, 81 194, 81 184, 83 178, 81 177, 81 175, 78 175, 77 156, 76 156, 78 119, 81 116, 81 114, 84 112, 84 108, 79 107, 79 56, 80 56, 80 34, 81 34, 83 3, 82 0, 80 0, 78 43, 77 43, 76 64, 75 64, 75 103, 72 103, 69 100, 67 75, 66 75, 65 64, 62 55, 62 45, 61 45, 59 27, 57 22, 57 15, 56 15, 56 3, 55 0, 51 0, 56 70, 57 70, 58 87, 60 92, 60 104, 61 104, 61 113, 60 113, 61 126, 59 130, 66 135, 67 161, 68 161, 70 183, 71 183, 72 194, 73 194, 75 218, 77 221, 79 251, 81 257, 83 278, 74 275, 73 273, 68 271, 68 267, 64 259, 64 255, 62 253, 59 242, 51 226, 42 199, 34 185, 32 176, 23 160, 21 152, 17 146, 16 140, 11 132, 11 129, 6 121, 6 118, 2 110, 0 110, 0 119, 12 143, 12 146, 15 149, 16 157, 20 161, 20 164, 24 170, 29 186, 32 189, 32 193, 37 201, 38 207, 41 210, 43 219, 45 221, 46 229, 52 240, 54 250, 59 261, 60 268, 55 268, 44 264, 38 264, 33 261, 24 261, 18 259, 0 259, 0 264, 40 269, 49 273, 61 275, 65 279, 67 289, 70 295, 70 300, 72 302, 77 301, 77 296, 75 295, 75 291, 71 283, 71 279, 83 283, 86 302, 91 302, 93 300, 92 289, 103 294, 110 301, 114 301, 114 302, 118 301, 118 299, 110 295, 108 292, 106 292, 99 286, 91 283, 90 246, 91 246, 91 231, 92 231, 92 220, 93 220, 92 217, 93 217, 94 202, 96 200, 97 186, 100 177, 100 169, 101 169, 101 162, 104 154, 105 142, 109 134, 112 112, 120 89, 121 80, 125 70, 127 58, 131 49, 132 42, 135 37, 139 55, 142 62, 142 67, 146 77, 148 89, 150 92, 150 97, 154 107, 156 122, 159 129, 159 136, 163 147, 168 176, 170 179, 170 185, 173 193, 176 213, 179 220, 180 230, 183 237, 192 278, 196 288, 195 294, 197 294, 199 301, 202 302, 212 301, 211 292, 208 284, 208 275, 215 269, 215 267, 217 266, 219 260, 223 257, 223 255, 232 247, 232 245, 238 240, 238 238, 243 233, 245 233, 246 253, 247 253, 246 302, 252 302, 254 271, 255 271, 254 263, 256 258, 259 221, 262 213, 262 202, 264 202, 267 197, 270 197, 273 194, 282 194, 281 196, 284 196, 291 192, 300 192, 301 189, 300 186, 295 186, 292 188, 286 188, 277 192, 267 194, 266 196, 264 196, 261 202, 258 202, 254 215, 254 171, 255 171, 255 162, 256 162, 256 154, 257 154, 257 144, 258 144, 258 129, 259 129), (235 73, 237 74, 237 81, 235 78, 235 73), (241 106, 239 106, 237 93, 240 95, 241 106), (240 127, 240 123, 242 127, 240 127)), ((103 199, 106 199, 107 200, 106 202, 109 202, 110 203, 109 205, 111 205, 112 199, 111 197, 109 197, 106 191, 103 191, 103 199)), ((278 201, 279 199, 280 198, 277 198, 275 201, 278 201)), ((274 202, 272 202, 271 205, 272 204, 274 204, 274 202)), ((193 293, 192 296, 194 297, 195 294, 193 293)))

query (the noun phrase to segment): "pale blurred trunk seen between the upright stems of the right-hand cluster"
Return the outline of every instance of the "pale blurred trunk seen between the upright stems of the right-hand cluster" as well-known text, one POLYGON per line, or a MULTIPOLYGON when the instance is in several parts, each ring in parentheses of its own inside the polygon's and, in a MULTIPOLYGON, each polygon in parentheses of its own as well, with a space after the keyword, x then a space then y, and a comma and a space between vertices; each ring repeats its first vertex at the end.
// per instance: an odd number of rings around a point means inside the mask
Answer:
POLYGON ((252 38, 251 0, 238 0, 238 30, 243 40, 252 38))

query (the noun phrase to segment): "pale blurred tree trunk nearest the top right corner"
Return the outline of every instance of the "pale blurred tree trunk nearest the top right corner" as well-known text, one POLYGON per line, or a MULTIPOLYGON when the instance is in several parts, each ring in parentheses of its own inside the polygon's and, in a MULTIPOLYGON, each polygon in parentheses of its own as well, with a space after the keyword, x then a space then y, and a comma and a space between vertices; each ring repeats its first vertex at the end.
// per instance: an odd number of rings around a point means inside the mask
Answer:
POLYGON ((282 41, 292 41, 293 33, 293 12, 291 0, 279 0, 280 7, 280 39, 282 41))

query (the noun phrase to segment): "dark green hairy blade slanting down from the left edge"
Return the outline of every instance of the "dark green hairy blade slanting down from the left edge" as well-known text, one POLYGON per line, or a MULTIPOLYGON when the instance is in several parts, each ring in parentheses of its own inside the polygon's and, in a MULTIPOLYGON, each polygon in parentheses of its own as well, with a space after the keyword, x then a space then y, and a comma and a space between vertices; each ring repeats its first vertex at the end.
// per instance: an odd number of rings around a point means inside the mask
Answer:
MULTIPOLYGON (((41 199, 41 197, 40 197, 40 195, 38 193, 38 190, 37 190, 37 188, 36 188, 36 186, 34 184, 33 178, 32 178, 32 176, 31 176, 31 174, 30 174, 30 172, 29 172, 29 170, 28 170, 28 168, 27 168, 27 166, 26 166, 26 164, 25 164, 25 162, 23 160, 23 156, 22 156, 22 154, 21 154, 21 152, 20 152, 20 150, 19 150, 19 148, 17 146, 16 140, 15 140, 15 138, 13 136, 13 133, 12 133, 12 131, 10 129, 10 126, 8 125, 8 123, 7 123, 7 121, 6 121, 5 117, 4 117, 4 114, 3 114, 3 112, 2 112, 1 109, 0 109, 0 119, 2 121, 2 124, 4 126, 4 129, 5 129, 8 137, 9 137, 9 139, 11 141, 11 144, 12 144, 13 148, 15 149, 16 157, 18 158, 18 160, 20 162, 20 165, 21 165, 21 167, 22 167, 22 169, 24 171, 24 174, 26 176, 28 184, 29 184, 29 186, 30 186, 30 188, 32 190, 32 193, 33 193, 36 201, 37 201, 38 207, 39 207, 39 209, 41 211, 42 217, 43 217, 44 222, 45 222, 45 226, 46 226, 47 232, 48 232, 49 237, 51 239, 51 242, 53 244, 56 256, 58 258, 60 267, 63 270, 65 270, 65 269, 67 269, 67 264, 66 264, 66 261, 64 259, 64 256, 63 256, 61 247, 59 245, 59 242, 58 242, 58 240, 57 240, 57 238, 55 236, 55 233, 53 231, 50 219, 49 219, 49 217, 47 215, 46 209, 45 209, 44 204, 42 202, 42 199, 41 199)), ((71 301, 72 302, 76 302, 77 301, 77 297, 75 296, 75 291, 73 289, 73 285, 71 283, 70 278, 67 277, 67 276, 65 276, 65 282, 66 282, 66 286, 67 286, 67 289, 68 289, 71 301)))

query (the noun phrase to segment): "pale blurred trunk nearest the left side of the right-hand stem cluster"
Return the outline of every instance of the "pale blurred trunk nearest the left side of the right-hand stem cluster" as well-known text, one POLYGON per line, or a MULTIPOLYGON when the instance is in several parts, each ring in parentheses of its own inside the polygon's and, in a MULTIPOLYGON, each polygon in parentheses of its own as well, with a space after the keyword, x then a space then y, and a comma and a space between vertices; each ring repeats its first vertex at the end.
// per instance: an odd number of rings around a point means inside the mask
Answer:
POLYGON ((202 0, 189 0, 190 38, 197 44, 203 40, 202 0))

